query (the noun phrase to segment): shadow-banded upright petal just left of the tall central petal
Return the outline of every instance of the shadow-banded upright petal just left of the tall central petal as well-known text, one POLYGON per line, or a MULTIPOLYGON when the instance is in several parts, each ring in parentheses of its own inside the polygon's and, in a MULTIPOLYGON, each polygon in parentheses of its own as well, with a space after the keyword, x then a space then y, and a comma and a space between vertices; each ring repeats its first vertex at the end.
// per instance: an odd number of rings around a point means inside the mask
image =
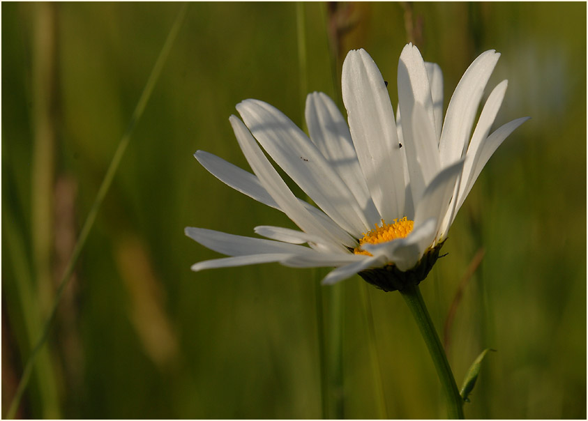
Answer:
POLYGON ((368 185, 359 167, 349 126, 335 102, 322 92, 306 97, 306 125, 310 140, 339 174, 356 198, 370 227, 382 217, 368 192, 368 185))

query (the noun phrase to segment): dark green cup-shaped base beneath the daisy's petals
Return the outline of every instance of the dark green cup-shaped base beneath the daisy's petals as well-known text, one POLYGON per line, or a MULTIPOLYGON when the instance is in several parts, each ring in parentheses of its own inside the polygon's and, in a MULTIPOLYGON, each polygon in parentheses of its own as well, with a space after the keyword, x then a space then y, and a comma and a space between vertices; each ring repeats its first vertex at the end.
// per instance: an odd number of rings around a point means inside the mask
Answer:
MULTIPOLYGON (((444 242, 443 242, 444 243, 444 242)), ((427 277, 433 265, 439 259, 439 251, 443 246, 439 243, 428 252, 426 252, 419 263, 414 268, 402 272, 395 265, 386 265, 383 268, 363 270, 359 276, 363 277, 365 282, 372 284, 386 292, 402 291, 407 285, 418 285, 427 277)))

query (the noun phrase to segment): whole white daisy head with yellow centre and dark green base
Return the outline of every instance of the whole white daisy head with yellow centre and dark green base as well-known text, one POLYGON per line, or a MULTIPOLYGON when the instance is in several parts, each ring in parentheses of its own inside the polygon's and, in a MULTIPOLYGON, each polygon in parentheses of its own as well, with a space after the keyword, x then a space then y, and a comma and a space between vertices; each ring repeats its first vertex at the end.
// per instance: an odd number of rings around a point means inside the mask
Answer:
POLYGON ((335 267, 325 284, 356 273, 386 291, 421 282, 480 171, 527 120, 490 134, 505 80, 490 93, 470 137, 499 56, 490 50, 469 66, 443 123, 441 69, 425 63, 412 44, 398 63, 396 118, 382 74, 363 49, 349 52, 343 63, 347 123, 319 92, 306 100, 310 137, 266 102, 241 102, 241 119, 229 121, 255 175, 204 151, 195 158, 223 183, 284 212, 300 231, 256 227, 262 239, 188 227, 190 238, 229 256, 195 263, 192 270, 280 262, 335 267), (262 148, 316 206, 294 196, 262 148))

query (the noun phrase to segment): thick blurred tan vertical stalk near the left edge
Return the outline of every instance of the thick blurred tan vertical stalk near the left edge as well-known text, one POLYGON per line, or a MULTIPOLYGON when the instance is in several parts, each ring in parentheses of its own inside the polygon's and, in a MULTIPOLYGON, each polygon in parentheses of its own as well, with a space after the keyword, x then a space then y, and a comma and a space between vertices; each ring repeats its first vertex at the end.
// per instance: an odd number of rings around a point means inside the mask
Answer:
MULTIPOLYGON (((34 10, 32 56, 33 151, 31 162, 31 245, 33 270, 20 270, 17 283, 18 299, 24 316, 27 355, 40 332, 41 321, 47 316, 53 299, 51 257, 53 251, 53 209, 56 121, 58 119, 57 82, 57 7, 54 3, 38 3, 34 10), (33 282, 35 280, 36 282, 33 282)), ((16 233, 9 234, 16 236, 16 233)), ((12 247, 13 243, 9 243, 12 247)), ((10 247, 10 248, 11 248, 10 247)), ((24 252, 24 248, 22 249, 24 252)), ((17 252, 13 251, 13 262, 17 252)), ((15 264, 16 266, 16 264, 15 264)), ((15 267, 16 270, 16 267, 15 267)), ((36 370, 40 414, 59 418, 59 395, 54 367, 46 350, 36 370)))

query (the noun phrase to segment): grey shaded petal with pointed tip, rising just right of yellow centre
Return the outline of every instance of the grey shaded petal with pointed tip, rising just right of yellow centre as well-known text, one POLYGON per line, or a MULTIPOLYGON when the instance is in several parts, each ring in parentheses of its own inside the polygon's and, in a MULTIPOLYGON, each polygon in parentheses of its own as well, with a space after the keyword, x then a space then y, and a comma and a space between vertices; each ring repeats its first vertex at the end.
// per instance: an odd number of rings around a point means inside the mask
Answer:
POLYGON ((463 168, 463 160, 456 162, 441 171, 427 186, 423 198, 416 205, 414 226, 417 227, 429 218, 434 218, 436 225, 432 238, 423 240, 421 245, 428 247, 437 240, 437 232, 447 213, 451 196, 455 190, 455 183, 463 168))

